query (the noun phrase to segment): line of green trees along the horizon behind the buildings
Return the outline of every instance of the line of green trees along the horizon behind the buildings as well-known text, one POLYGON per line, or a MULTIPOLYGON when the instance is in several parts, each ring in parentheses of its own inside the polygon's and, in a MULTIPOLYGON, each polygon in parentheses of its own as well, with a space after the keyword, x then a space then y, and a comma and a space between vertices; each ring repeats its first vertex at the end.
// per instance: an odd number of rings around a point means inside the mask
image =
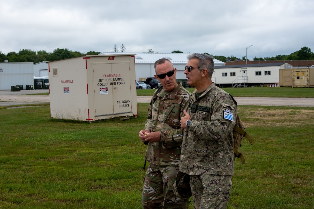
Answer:
MULTIPOLYGON (((114 44, 114 47, 112 49, 113 52, 125 52, 126 48, 122 44, 120 49, 114 44)), ((148 50, 149 53, 153 53, 154 51, 152 49, 148 50)), ((171 53, 183 53, 179 50, 172 51, 171 53)), ((82 53, 79 51, 71 51, 67 48, 65 49, 55 49, 53 52, 47 52, 46 50, 41 51, 33 51, 30 49, 21 49, 18 53, 16 52, 9 52, 8 54, 3 54, 0 51, 0 62, 5 62, 5 60, 8 60, 8 62, 33 62, 38 63, 42 61, 54 61, 54 60, 62 60, 72 57, 78 57, 83 55, 98 55, 100 52, 95 51, 89 51, 86 53, 82 53)), ((208 54, 208 53, 204 53, 208 54)), ((208 54, 211 55, 211 54, 208 54)), ((234 60, 246 60, 246 56, 243 56, 242 59, 237 58, 233 55, 230 55, 228 57, 225 56, 219 56, 219 55, 212 55, 215 59, 225 62, 226 59, 230 59, 230 61, 234 60)), ((249 59, 247 59, 249 60, 249 59)), ((300 50, 295 51, 291 53, 290 55, 276 55, 274 57, 254 57, 253 60, 314 60, 314 53, 311 52, 311 49, 304 46, 300 50)))

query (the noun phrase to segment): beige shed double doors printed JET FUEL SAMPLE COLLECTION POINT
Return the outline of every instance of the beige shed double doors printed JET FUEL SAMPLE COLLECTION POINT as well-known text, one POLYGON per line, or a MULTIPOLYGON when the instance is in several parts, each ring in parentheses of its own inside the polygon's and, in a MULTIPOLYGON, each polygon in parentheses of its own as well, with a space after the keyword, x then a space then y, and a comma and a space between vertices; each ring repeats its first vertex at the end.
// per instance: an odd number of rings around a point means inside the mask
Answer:
POLYGON ((130 63, 93 64, 95 116, 132 112, 130 63))

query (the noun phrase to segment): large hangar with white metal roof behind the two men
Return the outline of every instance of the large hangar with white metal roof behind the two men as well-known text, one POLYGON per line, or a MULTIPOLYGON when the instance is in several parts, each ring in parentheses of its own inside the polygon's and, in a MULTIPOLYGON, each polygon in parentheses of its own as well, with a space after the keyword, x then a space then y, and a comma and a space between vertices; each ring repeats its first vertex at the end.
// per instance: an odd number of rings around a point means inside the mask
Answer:
MULTIPOLYGON (((186 79, 184 75, 184 66, 187 64, 187 55, 191 53, 149 53, 149 52, 101 52, 100 55, 114 55, 114 54, 136 54, 135 55, 135 77, 154 77, 155 69, 154 63, 161 59, 166 58, 170 60, 173 66, 177 69, 176 79, 186 79)), ((215 66, 224 66, 225 63, 214 59, 215 66)))

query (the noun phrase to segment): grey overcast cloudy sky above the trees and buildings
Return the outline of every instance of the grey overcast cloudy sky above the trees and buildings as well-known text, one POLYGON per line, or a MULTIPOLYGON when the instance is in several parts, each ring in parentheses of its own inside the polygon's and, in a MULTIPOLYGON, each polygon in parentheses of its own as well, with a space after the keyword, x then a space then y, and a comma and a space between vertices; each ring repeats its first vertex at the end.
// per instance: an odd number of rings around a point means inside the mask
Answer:
POLYGON ((313 0, 0 1, 0 51, 184 53, 254 57, 314 51, 313 0))

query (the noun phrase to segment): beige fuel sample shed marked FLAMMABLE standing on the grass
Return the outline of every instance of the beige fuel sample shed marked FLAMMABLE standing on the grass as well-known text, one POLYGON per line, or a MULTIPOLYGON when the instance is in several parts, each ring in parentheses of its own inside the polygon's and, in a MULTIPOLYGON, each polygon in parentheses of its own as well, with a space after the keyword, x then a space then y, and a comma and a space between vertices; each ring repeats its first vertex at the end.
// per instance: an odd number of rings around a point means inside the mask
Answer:
POLYGON ((48 62, 51 118, 95 121, 137 116, 134 55, 48 62))

